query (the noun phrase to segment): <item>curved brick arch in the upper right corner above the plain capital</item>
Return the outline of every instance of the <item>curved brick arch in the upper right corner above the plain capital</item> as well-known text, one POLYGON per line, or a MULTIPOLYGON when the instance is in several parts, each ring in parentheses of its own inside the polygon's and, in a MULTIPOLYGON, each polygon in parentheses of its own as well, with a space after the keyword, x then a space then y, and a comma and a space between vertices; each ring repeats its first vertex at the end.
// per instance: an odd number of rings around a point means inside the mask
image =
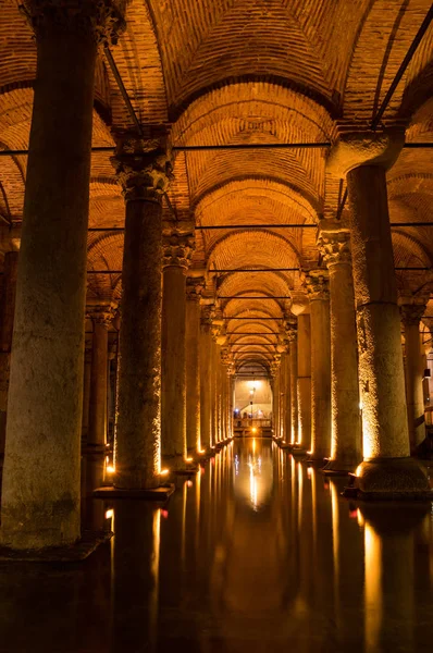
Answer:
MULTIPOLYGON (((345 119, 371 121, 428 10, 425 0, 375 0, 366 8, 345 84, 345 119)), ((401 115, 405 86, 410 87, 431 59, 431 35, 430 28, 430 35, 425 35, 423 46, 417 50, 404 75, 404 83, 398 85, 387 106, 384 122, 401 115)), ((408 88, 405 100, 408 107, 411 94, 413 90, 408 88)), ((407 114, 407 110, 404 113, 407 114)))

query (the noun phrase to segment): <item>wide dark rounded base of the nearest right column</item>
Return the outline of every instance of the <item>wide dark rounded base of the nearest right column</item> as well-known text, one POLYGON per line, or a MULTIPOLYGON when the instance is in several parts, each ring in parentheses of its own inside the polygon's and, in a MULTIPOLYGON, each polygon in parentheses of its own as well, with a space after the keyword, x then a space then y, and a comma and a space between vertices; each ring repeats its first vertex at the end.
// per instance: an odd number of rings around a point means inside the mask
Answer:
POLYGON ((364 460, 350 475, 344 496, 374 500, 432 500, 426 473, 412 458, 364 460))

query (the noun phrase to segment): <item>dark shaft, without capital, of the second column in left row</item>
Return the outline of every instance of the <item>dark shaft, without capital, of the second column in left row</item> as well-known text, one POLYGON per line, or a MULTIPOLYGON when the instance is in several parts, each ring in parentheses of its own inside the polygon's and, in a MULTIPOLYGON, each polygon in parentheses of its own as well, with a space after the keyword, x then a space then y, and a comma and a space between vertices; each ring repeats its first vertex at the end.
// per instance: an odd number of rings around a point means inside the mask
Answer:
POLYGON ((126 202, 119 337, 114 484, 159 484, 161 436, 161 204, 126 202))

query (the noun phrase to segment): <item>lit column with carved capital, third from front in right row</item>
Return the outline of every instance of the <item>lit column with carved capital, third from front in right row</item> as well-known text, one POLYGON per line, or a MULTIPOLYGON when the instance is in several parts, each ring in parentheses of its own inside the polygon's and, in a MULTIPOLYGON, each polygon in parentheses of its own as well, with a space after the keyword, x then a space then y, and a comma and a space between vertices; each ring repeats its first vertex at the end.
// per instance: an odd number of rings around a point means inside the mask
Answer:
POLYGON ((331 325, 326 270, 306 276, 311 323, 311 458, 331 454, 331 325))

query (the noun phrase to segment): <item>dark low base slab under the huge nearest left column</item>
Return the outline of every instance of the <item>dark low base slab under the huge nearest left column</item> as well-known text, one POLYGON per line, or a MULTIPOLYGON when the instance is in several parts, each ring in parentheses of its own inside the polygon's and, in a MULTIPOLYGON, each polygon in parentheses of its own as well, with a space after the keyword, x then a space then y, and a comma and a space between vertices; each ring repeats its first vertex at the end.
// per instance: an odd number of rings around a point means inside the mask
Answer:
POLYGON ((100 544, 113 537, 111 531, 84 531, 79 540, 70 546, 16 550, 0 546, 0 562, 11 563, 78 563, 85 560, 100 544))

